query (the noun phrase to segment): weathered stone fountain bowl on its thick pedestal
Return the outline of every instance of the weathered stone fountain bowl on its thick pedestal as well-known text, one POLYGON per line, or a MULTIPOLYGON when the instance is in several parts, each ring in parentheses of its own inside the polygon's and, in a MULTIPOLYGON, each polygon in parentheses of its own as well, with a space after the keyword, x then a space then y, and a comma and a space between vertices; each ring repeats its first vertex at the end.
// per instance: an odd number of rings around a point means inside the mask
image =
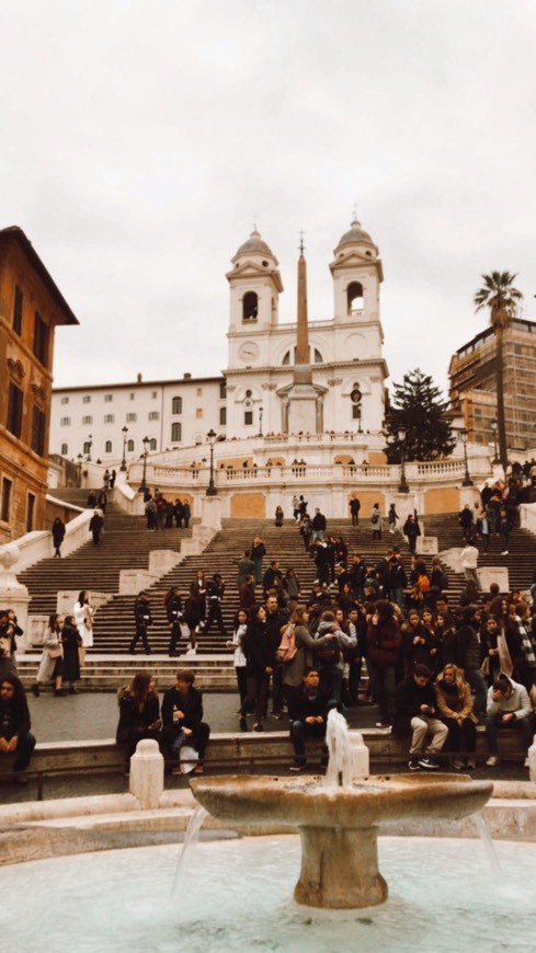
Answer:
POLYGON ((484 806, 493 784, 465 774, 397 774, 329 789, 321 778, 236 774, 194 779, 191 788, 199 804, 227 824, 295 824, 301 840, 295 900, 347 909, 387 899, 377 850, 383 822, 465 817, 484 806))

